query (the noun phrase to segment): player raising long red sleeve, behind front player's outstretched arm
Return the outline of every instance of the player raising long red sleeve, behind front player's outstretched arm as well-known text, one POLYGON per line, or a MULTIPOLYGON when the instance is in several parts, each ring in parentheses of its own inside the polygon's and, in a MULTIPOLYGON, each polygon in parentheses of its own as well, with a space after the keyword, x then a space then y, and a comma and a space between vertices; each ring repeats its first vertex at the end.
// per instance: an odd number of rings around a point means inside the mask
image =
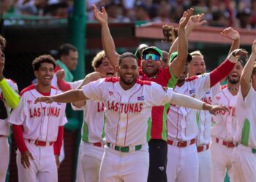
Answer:
MULTIPOLYGON (((241 50, 232 52, 228 58, 209 74, 192 76, 186 79, 189 71, 188 64, 184 73, 178 79, 175 92, 202 98, 215 84, 224 79, 232 71, 237 62, 235 57, 241 50)), ((177 52, 173 52, 170 61, 176 59, 177 52)), ((198 117, 198 116, 197 116, 198 117)), ((168 181, 198 181, 198 157, 196 148, 197 123, 195 111, 176 105, 170 107, 167 115, 168 130, 168 181)))

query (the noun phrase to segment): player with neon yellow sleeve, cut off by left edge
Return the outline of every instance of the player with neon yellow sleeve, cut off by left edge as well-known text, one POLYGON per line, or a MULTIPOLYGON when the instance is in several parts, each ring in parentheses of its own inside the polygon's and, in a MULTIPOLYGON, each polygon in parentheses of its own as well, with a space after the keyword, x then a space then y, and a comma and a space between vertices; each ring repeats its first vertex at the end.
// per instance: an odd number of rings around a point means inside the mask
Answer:
POLYGON ((10 159, 9 143, 7 137, 10 135, 7 117, 11 108, 16 108, 19 103, 18 87, 15 82, 3 76, 5 39, 0 35, 0 182, 4 182, 10 159))

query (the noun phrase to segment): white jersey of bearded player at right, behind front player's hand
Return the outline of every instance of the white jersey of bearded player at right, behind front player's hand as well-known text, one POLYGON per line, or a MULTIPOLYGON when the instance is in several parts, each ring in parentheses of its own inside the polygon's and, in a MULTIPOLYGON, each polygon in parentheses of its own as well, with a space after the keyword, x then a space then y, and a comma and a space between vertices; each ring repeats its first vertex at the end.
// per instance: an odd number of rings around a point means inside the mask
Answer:
POLYGON ((228 111, 219 111, 217 115, 212 115, 216 124, 211 128, 211 137, 220 138, 225 141, 233 141, 236 132, 236 99, 237 95, 232 95, 227 87, 214 96, 213 105, 227 106, 228 111))

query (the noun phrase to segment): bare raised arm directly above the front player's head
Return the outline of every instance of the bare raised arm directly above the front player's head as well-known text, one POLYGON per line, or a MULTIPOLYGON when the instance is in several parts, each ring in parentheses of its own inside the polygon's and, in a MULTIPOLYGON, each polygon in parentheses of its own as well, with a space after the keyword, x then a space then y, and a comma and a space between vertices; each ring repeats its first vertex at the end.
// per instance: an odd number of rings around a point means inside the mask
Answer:
POLYGON ((105 54, 110 61, 110 64, 116 68, 118 65, 119 54, 116 52, 116 46, 111 36, 110 29, 108 27, 108 15, 105 7, 102 7, 102 12, 97 9, 95 5, 92 5, 94 9, 94 18, 102 26, 102 47, 105 50, 105 54))

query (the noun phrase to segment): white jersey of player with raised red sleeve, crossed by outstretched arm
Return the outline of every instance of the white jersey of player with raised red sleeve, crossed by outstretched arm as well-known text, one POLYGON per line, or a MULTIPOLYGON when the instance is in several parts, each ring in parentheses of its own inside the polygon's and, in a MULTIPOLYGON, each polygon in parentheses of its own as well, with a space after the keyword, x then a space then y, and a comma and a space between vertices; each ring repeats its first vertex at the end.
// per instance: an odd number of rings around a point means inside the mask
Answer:
MULTIPOLYGON (((210 74, 192 76, 174 92, 200 99, 210 89, 210 74)), ((176 105, 170 106, 167 115, 167 132, 169 140, 189 141, 197 136, 196 110, 176 105)))

